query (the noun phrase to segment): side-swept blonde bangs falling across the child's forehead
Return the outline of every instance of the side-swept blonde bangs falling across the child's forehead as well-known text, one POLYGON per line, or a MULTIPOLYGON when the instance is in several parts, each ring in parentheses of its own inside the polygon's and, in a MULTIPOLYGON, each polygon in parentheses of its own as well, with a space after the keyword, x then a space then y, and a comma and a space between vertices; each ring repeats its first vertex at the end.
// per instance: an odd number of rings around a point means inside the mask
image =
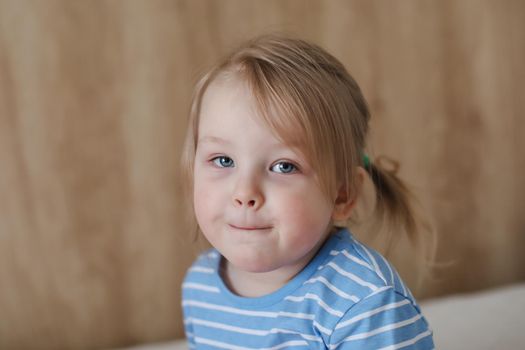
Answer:
POLYGON ((320 188, 331 196, 336 164, 329 130, 323 125, 323 94, 317 86, 305 82, 304 76, 279 68, 251 58, 240 63, 235 73, 250 90, 257 115, 277 139, 308 162, 320 188))

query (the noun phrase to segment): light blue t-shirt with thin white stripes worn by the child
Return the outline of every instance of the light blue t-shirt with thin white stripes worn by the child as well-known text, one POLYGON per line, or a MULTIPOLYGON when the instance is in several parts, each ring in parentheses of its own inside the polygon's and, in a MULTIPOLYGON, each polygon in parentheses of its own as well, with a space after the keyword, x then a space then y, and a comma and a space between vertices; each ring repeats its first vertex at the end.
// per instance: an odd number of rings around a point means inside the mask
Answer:
POLYGON ((258 298, 223 283, 216 250, 182 285, 186 337, 197 349, 433 349, 412 294, 378 252, 347 230, 332 235, 279 290, 258 298))

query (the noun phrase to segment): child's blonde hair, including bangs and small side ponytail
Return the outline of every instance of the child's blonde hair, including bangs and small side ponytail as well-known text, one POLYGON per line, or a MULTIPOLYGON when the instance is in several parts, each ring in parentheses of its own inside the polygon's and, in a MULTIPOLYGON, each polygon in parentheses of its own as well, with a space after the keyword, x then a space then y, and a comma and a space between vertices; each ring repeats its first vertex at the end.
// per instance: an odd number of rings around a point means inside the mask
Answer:
POLYGON ((208 86, 233 75, 246 83, 259 115, 283 142, 297 147, 315 169, 327 195, 342 186, 357 193, 355 169, 365 168, 376 189, 379 221, 417 237, 411 194, 397 177, 397 163, 363 162, 370 112, 361 89, 343 64, 317 45, 282 35, 250 40, 211 68, 198 82, 183 151, 186 188, 193 189, 199 112, 208 86))

